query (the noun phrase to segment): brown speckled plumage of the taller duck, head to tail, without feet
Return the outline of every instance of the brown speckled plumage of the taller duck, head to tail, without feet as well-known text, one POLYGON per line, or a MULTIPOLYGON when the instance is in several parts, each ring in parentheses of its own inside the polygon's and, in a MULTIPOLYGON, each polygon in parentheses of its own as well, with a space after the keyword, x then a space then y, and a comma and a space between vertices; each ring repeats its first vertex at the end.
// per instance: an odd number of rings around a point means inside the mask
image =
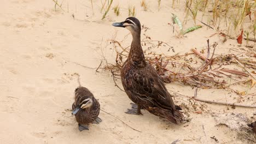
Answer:
MULTIPOLYGON (((122 23, 129 25, 132 43, 129 57, 121 69, 121 80, 128 97, 139 107, 173 123, 183 120, 181 108, 174 105, 170 93, 156 70, 146 62, 141 47, 141 25, 135 17, 128 17, 122 23), (132 24, 135 25, 132 25, 132 24), (179 110, 178 110, 179 109, 179 110)), ((119 26, 113 24, 113 26, 119 26)), ((120 26, 119 26, 120 27, 120 26)))

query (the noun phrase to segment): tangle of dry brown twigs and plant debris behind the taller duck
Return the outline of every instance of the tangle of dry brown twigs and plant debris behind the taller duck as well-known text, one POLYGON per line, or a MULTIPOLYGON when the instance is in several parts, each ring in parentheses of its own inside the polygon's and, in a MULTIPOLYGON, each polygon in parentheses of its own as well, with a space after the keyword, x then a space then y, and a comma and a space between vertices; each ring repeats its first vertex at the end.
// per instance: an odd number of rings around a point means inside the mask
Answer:
MULTIPOLYGON (((111 41, 116 52, 116 63, 108 64, 105 69, 111 70, 111 73, 115 79, 119 77, 118 75, 120 75, 121 67, 129 55, 130 46, 123 47, 118 41, 111 41)), ((240 92, 232 89, 230 86, 233 84, 235 85, 238 79, 245 81, 251 74, 248 74, 247 71, 243 71, 244 69, 241 69, 240 66, 238 67, 237 61, 241 62, 241 64, 243 64, 245 67, 253 69, 255 68, 256 63, 251 57, 241 58, 230 54, 215 56, 214 51, 217 44, 210 46, 208 40, 207 57, 203 56, 204 58, 201 64, 191 56, 193 53, 185 53, 185 55, 178 53, 173 56, 168 56, 150 51, 150 49, 153 47, 158 48, 161 46, 168 46, 170 49, 173 49, 172 46, 168 45, 164 41, 149 39, 143 40, 141 43, 143 47, 148 47, 148 49, 144 51, 144 55, 148 63, 151 64, 156 71, 158 71, 158 74, 166 83, 177 81, 184 83, 184 85, 193 87, 222 88, 237 94, 241 94, 240 92), (213 48, 212 53, 210 53, 211 47, 213 48), (237 69, 226 68, 226 65, 235 65, 237 69), (228 78, 234 80, 234 82, 227 82, 228 78)), ((202 53, 200 53, 200 55, 202 55, 202 53)))

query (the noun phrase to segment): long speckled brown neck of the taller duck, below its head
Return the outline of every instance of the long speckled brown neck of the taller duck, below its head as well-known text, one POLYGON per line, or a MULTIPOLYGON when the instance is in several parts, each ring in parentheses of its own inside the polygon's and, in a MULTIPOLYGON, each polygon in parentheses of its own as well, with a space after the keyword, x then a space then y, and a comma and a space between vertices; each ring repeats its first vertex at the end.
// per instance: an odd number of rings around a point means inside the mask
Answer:
POLYGON ((130 50, 128 59, 131 64, 137 65, 138 67, 146 66, 144 52, 141 47, 140 33, 139 34, 132 33, 131 50, 130 50))

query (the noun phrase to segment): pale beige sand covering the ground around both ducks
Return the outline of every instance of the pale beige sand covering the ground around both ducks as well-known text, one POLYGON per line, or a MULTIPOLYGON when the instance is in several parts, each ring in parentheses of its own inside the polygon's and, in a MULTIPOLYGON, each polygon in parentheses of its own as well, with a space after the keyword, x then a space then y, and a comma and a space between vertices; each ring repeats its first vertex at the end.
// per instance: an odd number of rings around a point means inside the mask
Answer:
MULTIPOLYGON (((128 34, 123 45, 131 43, 131 35, 126 29, 111 26, 112 22, 128 17, 129 4, 136 6, 136 17, 150 28, 147 35, 154 40, 166 41, 175 50, 153 49, 159 53, 174 55, 194 47, 202 49, 207 37, 216 31, 203 27, 187 34, 186 38, 177 38, 167 23, 171 22, 171 13, 184 17, 182 7, 172 9, 171 1, 163 1, 158 11, 157 2, 148 0, 149 10, 143 11, 139 1, 114 1, 114 4, 118 3, 121 14, 115 16, 110 10, 106 19, 101 20, 101 1, 94 1, 94 14, 90 1, 63 1, 65 11, 55 11, 54 2, 50 0, 1 1, 1 143, 171 143, 177 139, 181 140, 177 143, 216 143, 210 138, 212 136, 217 137, 219 143, 245 143, 236 139, 235 131, 224 126, 216 127, 211 113, 240 112, 252 117, 255 109, 229 107, 228 110, 228 106, 201 103, 207 112, 190 111, 191 122, 181 125, 164 121, 144 110, 143 116, 124 113, 130 107, 130 99, 115 86, 108 70, 99 69, 100 73, 95 70, 102 55, 109 62, 115 61, 115 52, 108 40, 123 40, 128 34), (102 111, 99 116, 102 123, 91 124, 89 131, 80 132, 71 115, 74 89, 78 87, 75 73, 80 75, 82 85, 99 99, 102 110, 142 133, 102 111)), ((216 35, 210 41, 220 40, 216 35)), ((218 45, 217 53, 225 53, 222 48, 230 44, 238 47, 236 40, 229 39, 218 45)), ((117 83, 121 86, 120 81, 117 83)), ((170 83, 166 87, 170 91, 194 95, 194 89, 182 83, 170 83)), ((255 86, 248 91, 255 92, 255 86)), ((199 89, 198 92, 198 97, 220 101, 231 101, 231 96, 238 97, 223 89, 199 89)), ((180 99, 175 101, 182 103, 180 99)), ((254 97, 244 104, 255 105, 255 101, 254 97)))

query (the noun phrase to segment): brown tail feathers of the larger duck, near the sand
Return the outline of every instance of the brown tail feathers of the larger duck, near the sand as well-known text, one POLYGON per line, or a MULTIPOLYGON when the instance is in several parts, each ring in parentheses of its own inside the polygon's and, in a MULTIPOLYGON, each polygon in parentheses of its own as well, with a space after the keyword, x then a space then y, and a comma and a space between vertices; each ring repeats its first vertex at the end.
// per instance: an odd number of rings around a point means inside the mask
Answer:
POLYGON ((164 110, 159 107, 148 107, 148 111, 156 116, 166 118, 172 123, 178 124, 183 122, 184 116, 179 110, 164 110))

